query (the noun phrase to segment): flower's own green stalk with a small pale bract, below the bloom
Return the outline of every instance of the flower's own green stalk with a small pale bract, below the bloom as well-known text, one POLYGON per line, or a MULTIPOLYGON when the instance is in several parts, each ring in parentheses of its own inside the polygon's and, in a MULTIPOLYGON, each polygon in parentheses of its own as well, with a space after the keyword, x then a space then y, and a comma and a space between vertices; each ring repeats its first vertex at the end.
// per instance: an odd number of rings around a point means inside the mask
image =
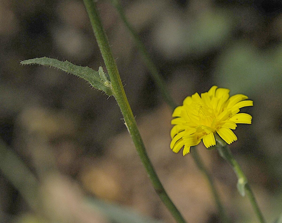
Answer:
POLYGON ((234 172, 237 175, 238 182, 237 182, 237 189, 239 193, 244 196, 245 194, 248 196, 252 207, 255 211, 255 214, 257 215, 257 218, 259 219, 259 222, 265 223, 265 220, 263 218, 263 215, 259 209, 259 206, 257 204, 257 201, 255 200, 255 196, 252 192, 252 189, 250 185, 248 184, 247 178, 244 175, 244 172, 239 165, 239 163, 235 160, 233 154, 231 153, 227 143, 218 135, 215 134, 215 140, 218 142, 217 149, 219 151, 219 154, 227 160, 233 167, 234 172))

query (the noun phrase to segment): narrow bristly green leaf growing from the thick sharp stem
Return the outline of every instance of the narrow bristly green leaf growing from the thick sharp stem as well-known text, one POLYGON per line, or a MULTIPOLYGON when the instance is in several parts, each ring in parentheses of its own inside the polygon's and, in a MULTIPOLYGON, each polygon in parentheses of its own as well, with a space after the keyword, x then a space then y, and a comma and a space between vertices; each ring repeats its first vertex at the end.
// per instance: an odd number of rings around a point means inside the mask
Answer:
MULTIPOLYGON (((113 91, 111 89, 111 83, 107 80, 101 80, 99 72, 92 70, 89 67, 81 67, 70 63, 69 61, 59 61, 57 59, 42 57, 42 58, 35 58, 35 59, 28 59, 21 61, 22 65, 32 65, 32 64, 40 64, 43 66, 50 66, 56 67, 60 70, 63 70, 67 73, 74 74, 84 80, 88 81, 94 88, 98 90, 104 91, 107 95, 113 95, 113 91)), ((105 75, 105 74, 104 74, 105 75)))

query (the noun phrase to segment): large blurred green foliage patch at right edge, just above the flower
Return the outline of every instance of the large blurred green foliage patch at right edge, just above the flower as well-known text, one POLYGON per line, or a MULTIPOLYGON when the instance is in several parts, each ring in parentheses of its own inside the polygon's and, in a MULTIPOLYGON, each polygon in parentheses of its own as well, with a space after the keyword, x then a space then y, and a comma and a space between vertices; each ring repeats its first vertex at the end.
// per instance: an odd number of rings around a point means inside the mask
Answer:
POLYGON ((216 82, 233 94, 249 96, 273 89, 281 94, 282 45, 261 50, 247 41, 234 43, 218 59, 216 82))

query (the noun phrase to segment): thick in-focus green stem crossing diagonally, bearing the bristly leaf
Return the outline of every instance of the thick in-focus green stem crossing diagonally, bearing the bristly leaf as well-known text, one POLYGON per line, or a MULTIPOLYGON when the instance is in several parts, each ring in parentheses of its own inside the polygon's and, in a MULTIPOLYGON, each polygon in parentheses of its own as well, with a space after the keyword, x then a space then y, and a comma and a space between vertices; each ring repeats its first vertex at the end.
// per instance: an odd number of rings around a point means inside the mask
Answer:
POLYGON ((122 85, 122 81, 120 80, 120 75, 118 73, 116 61, 113 57, 107 36, 103 30, 102 23, 96 9, 96 3, 94 3, 93 0, 83 0, 83 1, 92 24, 92 28, 98 46, 100 48, 102 57, 104 59, 106 68, 108 70, 109 77, 111 79, 111 84, 113 87, 113 95, 116 98, 116 101, 120 107, 122 115, 124 116, 125 124, 131 135, 131 138, 136 147, 138 155, 140 156, 140 159, 149 175, 153 187, 157 192, 157 194, 159 195, 162 202, 166 205, 166 207, 169 209, 169 211, 171 212, 171 214, 173 215, 173 217, 177 222, 186 222, 182 217, 182 215, 180 214, 179 210, 175 207, 175 205, 169 198, 168 194, 166 193, 146 153, 146 149, 143 140, 140 136, 140 133, 138 131, 135 118, 132 114, 131 108, 127 101, 124 88, 122 85))

